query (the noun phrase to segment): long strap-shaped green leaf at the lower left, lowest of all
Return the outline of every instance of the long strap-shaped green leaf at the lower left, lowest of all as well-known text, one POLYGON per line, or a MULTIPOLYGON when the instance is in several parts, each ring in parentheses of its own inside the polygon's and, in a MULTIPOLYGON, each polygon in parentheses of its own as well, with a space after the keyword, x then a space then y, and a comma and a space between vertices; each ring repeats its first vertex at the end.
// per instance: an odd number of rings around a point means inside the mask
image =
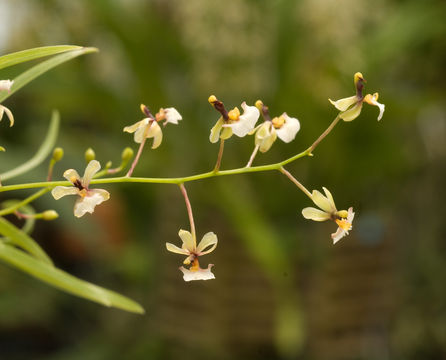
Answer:
POLYGON ((7 244, 0 243, 0 259, 47 284, 70 294, 97 302, 99 304, 116 307, 125 311, 143 314, 144 309, 133 300, 78 279, 65 271, 36 260, 32 256, 15 249, 7 244))

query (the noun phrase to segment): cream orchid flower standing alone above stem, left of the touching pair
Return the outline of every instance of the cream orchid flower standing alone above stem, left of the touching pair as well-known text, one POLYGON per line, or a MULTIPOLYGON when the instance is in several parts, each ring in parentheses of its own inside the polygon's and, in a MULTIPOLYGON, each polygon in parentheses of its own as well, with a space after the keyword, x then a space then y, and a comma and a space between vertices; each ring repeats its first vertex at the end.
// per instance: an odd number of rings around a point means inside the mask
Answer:
POLYGON ((156 149, 163 141, 163 132, 158 122, 165 120, 163 125, 168 123, 178 124, 182 120, 180 113, 175 108, 161 108, 159 112, 153 116, 147 106, 141 104, 141 111, 147 117, 137 123, 126 126, 125 132, 135 133, 133 139, 136 143, 141 144, 144 138, 153 138, 152 149, 156 149))

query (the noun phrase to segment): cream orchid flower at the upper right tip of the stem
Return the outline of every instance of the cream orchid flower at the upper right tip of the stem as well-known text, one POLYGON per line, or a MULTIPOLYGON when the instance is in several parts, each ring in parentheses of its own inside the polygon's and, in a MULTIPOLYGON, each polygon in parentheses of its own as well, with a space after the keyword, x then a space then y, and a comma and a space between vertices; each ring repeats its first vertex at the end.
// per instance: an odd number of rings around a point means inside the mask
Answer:
POLYGON ((373 95, 362 95, 365 80, 360 72, 357 72, 354 75, 353 80, 356 87, 356 95, 337 101, 328 99, 334 105, 334 107, 340 111, 339 117, 344 121, 352 121, 356 119, 361 113, 362 104, 366 102, 367 104, 374 105, 379 108, 378 121, 381 120, 385 106, 384 104, 380 104, 378 102, 378 93, 374 93, 373 95))

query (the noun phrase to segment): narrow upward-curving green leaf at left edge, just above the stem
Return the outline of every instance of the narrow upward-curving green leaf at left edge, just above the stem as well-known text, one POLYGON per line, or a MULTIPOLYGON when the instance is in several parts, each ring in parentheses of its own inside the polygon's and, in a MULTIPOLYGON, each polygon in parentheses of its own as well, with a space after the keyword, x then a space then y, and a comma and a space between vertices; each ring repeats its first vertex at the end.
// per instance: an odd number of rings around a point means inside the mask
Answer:
POLYGON ((40 165, 45 160, 45 158, 50 154, 50 152, 54 148, 54 145, 56 144, 57 134, 59 133, 59 123, 60 123, 59 112, 54 110, 51 115, 48 132, 46 134, 45 140, 43 140, 42 145, 40 145, 39 150, 37 150, 37 152, 31 159, 24 162, 22 165, 19 165, 12 170, 0 174, 0 180, 5 181, 8 179, 12 179, 13 177, 24 174, 34 169, 36 166, 40 165))

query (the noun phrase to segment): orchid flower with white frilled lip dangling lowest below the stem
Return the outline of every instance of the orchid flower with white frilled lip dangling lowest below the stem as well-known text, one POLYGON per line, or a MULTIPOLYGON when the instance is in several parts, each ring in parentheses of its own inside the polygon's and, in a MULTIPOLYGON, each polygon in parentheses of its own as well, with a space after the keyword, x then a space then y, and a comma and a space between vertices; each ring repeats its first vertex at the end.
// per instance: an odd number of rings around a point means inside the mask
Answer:
POLYGON ((171 243, 166 243, 166 248, 170 252, 187 256, 183 264, 190 265, 189 269, 183 266, 180 267, 184 281, 215 279, 214 274, 211 272, 211 268, 214 265, 209 264, 206 269, 202 269, 200 268, 198 257, 214 251, 218 242, 217 235, 213 232, 208 232, 203 236, 198 246, 196 239, 189 231, 180 230, 178 235, 183 241, 181 248, 171 243))

